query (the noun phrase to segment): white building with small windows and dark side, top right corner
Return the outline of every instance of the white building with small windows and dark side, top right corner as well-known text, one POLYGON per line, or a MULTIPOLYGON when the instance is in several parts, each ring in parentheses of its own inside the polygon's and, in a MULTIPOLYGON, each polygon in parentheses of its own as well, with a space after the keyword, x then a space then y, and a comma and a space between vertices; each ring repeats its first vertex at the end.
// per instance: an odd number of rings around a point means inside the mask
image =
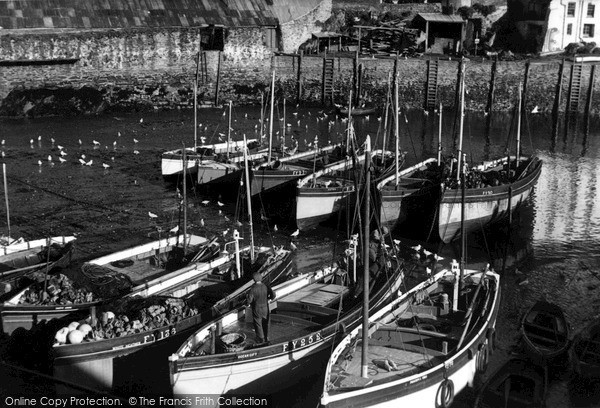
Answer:
POLYGON ((600 42, 600 0, 511 0, 508 12, 523 49, 552 53, 570 43, 600 42))

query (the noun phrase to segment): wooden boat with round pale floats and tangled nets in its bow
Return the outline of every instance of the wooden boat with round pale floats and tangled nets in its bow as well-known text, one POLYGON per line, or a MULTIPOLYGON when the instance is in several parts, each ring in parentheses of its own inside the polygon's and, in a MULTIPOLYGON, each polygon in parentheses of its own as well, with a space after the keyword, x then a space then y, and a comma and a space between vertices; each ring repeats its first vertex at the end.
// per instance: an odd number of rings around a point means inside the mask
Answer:
MULTIPOLYGON (((153 361, 156 369, 158 363, 154 359, 158 357, 151 353, 152 358, 149 358, 144 349, 154 343, 181 344, 199 324, 239 307, 252 286, 254 271, 258 270, 265 282, 276 283, 291 270, 290 251, 261 247, 256 255, 255 262, 250 263, 249 251, 243 251, 240 261, 245 265, 243 275, 233 280, 228 273, 230 265, 222 264, 153 296, 129 296, 104 304, 96 315, 104 318, 106 313, 112 312, 113 320, 108 318, 104 324, 102 318, 94 319, 92 314, 83 320, 92 330, 81 343, 54 344, 51 348, 54 377, 102 390, 122 386, 119 368, 143 378, 143 371, 152 371, 152 368, 139 365, 138 353, 144 356, 141 360, 145 364, 153 361), (162 312, 157 315, 157 310, 162 312), (123 328, 119 337, 107 337, 110 330, 117 335, 116 327, 123 328), (104 337, 98 333, 104 333, 104 337), (133 364, 133 361, 138 363, 133 364)), ((164 359, 166 361, 167 355, 164 359)))

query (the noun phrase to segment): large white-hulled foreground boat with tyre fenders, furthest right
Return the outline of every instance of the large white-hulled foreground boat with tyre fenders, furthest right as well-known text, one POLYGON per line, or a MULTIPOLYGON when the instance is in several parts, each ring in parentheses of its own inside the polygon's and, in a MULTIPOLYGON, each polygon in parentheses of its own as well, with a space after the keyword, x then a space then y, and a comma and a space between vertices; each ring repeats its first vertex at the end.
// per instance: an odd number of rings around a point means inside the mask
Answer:
POLYGON ((500 276, 462 275, 454 263, 375 312, 368 342, 362 325, 352 330, 331 354, 321 405, 450 406, 472 386, 494 347, 500 276), (361 376, 364 344, 368 378, 361 376))

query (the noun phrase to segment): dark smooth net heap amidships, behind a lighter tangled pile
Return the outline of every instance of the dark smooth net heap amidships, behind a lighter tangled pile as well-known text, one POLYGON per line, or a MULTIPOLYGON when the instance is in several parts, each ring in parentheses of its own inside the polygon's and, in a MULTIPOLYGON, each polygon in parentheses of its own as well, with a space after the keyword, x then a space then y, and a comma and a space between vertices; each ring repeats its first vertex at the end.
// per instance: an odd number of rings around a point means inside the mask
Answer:
POLYGON ((131 292, 131 278, 102 265, 85 263, 81 267, 85 283, 102 299, 110 299, 131 292))

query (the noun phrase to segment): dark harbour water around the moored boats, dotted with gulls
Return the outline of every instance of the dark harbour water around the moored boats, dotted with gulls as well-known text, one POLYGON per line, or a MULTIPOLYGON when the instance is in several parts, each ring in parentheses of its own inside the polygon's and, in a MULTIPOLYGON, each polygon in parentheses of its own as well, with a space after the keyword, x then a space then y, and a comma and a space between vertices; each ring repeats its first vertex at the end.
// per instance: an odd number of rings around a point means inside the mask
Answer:
MULTIPOLYGON (((286 116, 290 125, 285 126, 287 141, 293 135, 301 149, 313 143, 315 136, 320 144, 345 137, 347 123, 321 109, 288 107, 286 116)), ((438 116, 435 112, 426 115, 411 111, 405 119, 400 127, 400 144, 410 165, 424 155, 435 154, 438 116)), ((466 116, 463 151, 471 163, 504 154, 507 138, 512 136, 509 115, 496 114, 489 131, 487 119, 483 113, 466 116)), ((198 122, 198 137, 206 138, 206 142, 216 142, 227 134, 224 109, 200 110, 198 122)), ((259 122, 260 109, 235 108, 232 138, 239 139, 242 134, 257 137, 259 122)), ((523 153, 537 154, 544 161, 534 194, 515 216, 510 235, 506 228, 499 227, 468 239, 467 262, 492 261, 497 270, 502 267, 499 260, 504 258, 508 244, 510 267, 502 276, 503 298, 497 323, 499 349, 491 357, 488 374, 517 351, 519 319, 541 296, 563 308, 573 332, 599 313, 600 122, 592 119, 588 129, 582 119, 579 122, 570 129, 561 126, 553 132, 551 118, 526 116, 523 153)), ((282 120, 275 121, 276 136, 283 134, 283 126, 282 120)), ((375 137, 380 126, 381 121, 372 115, 357 119, 355 128, 362 140, 367 134, 375 137)), ((444 154, 454 150, 454 126, 450 115, 444 118, 444 154)), ((77 234, 76 257, 81 261, 142 243, 148 236, 156 237, 177 224, 175 186, 165 183, 160 175, 160 154, 182 143, 193 144, 191 111, 4 119, 0 121, 0 139, 7 167, 13 237, 77 234), (61 150, 66 155, 61 156, 61 150), (158 217, 149 217, 149 212, 158 217)), ((512 136, 513 154, 514 146, 512 136)), ((231 232, 239 207, 230 197, 233 195, 205 189, 190 190, 189 196, 191 229, 206 235, 231 232), (205 200, 209 203, 201 204, 205 200), (217 205, 217 201, 224 205, 217 205)), ((295 230, 289 216, 293 205, 293 198, 256 200, 258 243, 289 244, 295 230)), ((0 230, 8 233, 5 217, 0 220, 0 230)), ((344 234, 329 227, 302 232, 294 239, 298 270, 331 262, 332 249, 338 237, 345 239, 344 234)), ((412 242, 411 231, 398 229, 392 235, 412 242)), ((456 245, 431 244, 429 249, 447 258, 459 253, 456 245)), ((273 399, 282 407, 314 407, 321 387, 322 377, 315 374, 299 379, 298 386, 273 399)), ((573 393, 573 388, 568 367, 554 373, 547 405, 600 405, 598 396, 587 393, 582 397, 573 393)), ((465 392, 454 405, 472 406, 472 398, 471 392, 465 392)))

